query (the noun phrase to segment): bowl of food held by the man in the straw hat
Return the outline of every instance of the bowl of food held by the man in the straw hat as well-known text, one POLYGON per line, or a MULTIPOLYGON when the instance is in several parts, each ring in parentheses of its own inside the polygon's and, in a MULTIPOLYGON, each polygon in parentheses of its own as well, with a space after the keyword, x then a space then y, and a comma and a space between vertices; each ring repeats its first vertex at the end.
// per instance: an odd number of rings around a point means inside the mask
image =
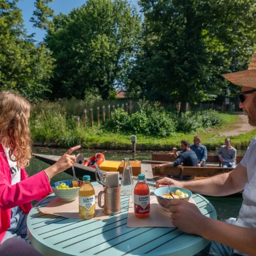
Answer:
POLYGON ((188 201, 192 196, 192 192, 182 187, 170 187, 170 194, 168 194, 168 187, 159 187, 155 189, 154 194, 157 202, 166 211, 169 211, 169 207, 172 205, 172 199, 180 199, 188 201))

